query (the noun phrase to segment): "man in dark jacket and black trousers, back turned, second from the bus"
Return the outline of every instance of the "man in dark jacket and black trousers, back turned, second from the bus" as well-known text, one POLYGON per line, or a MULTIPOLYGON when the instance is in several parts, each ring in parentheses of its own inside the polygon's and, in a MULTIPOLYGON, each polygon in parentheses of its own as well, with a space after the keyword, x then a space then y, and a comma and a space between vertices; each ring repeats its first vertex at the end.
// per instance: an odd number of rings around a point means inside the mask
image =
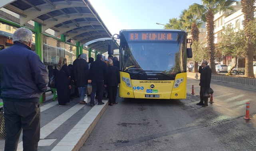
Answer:
POLYGON ((97 54, 97 60, 91 63, 90 66, 90 76, 88 82, 92 85, 91 92, 91 106, 94 106, 95 93, 97 91, 98 95, 98 105, 103 105, 103 87, 104 80, 107 78, 107 64, 101 60, 102 55, 97 54))

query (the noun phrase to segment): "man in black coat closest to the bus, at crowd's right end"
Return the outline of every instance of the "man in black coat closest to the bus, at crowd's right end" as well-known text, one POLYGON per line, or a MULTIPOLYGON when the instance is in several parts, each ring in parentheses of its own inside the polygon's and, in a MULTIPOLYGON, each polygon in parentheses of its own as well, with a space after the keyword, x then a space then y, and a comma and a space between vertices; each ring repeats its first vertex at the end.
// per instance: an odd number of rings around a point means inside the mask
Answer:
POLYGON ((107 72, 107 80, 105 81, 105 87, 107 87, 107 94, 109 97, 109 105, 117 104, 115 98, 117 96, 117 87, 120 84, 119 69, 113 66, 113 60, 108 60, 109 67, 107 72))

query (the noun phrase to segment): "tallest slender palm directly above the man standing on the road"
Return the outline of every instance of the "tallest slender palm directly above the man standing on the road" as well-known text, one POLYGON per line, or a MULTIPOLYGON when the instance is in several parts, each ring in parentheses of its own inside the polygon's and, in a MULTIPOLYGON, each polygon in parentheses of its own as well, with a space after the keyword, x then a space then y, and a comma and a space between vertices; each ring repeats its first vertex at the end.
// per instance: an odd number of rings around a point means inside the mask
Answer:
POLYGON ((202 5, 194 3, 192 7, 198 7, 203 10, 202 14, 206 16, 206 41, 212 73, 216 74, 215 69, 215 46, 214 46, 214 14, 220 11, 232 10, 230 6, 235 0, 202 0, 202 5))

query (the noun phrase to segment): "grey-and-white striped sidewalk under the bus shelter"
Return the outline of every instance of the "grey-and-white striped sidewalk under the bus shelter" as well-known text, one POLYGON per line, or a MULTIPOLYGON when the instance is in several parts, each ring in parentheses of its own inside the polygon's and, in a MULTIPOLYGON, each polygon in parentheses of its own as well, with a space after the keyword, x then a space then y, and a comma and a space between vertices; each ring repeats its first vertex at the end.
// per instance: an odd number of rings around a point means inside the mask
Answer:
MULTIPOLYGON (((58 106, 58 100, 52 101, 51 92, 46 93, 46 101, 41 103, 41 129, 38 151, 78 151, 91 134, 93 128, 108 106, 91 107, 78 103, 79 98, 70 101, 66 106, 58 106)), ((90 98, 85 97, 87 103, 90 98)), ((97 99, 96 99, 97 101, 97 99)), ((4 150, 4 140, 0 140, 0 151, 4 150)), ((22 151, 22 134, 18 151, 22 151)))

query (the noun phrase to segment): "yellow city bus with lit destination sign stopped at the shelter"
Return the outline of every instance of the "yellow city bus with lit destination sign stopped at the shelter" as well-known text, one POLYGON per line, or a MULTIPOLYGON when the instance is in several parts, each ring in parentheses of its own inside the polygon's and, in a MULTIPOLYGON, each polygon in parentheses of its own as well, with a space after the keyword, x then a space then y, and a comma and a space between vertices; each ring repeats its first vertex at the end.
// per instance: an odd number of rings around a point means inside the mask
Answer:
POLYGON ((186 99, 192 40, 184 30, 121 30, 119 97, 186 99))

